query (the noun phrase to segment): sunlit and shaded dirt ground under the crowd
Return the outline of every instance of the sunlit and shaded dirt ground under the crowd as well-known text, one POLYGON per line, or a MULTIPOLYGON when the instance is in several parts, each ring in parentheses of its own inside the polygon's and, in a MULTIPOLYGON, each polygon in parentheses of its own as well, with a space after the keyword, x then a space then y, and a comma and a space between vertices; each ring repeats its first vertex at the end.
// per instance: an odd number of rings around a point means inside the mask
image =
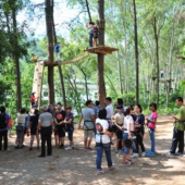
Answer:
MULTIPOLYGON (((14 149, 14 139, 9 139, 8 151, 0 152, 0 185, 185 185, 185 158, 166 158, 163 153, 171 147, 173 120, 160 116, 156 131, 155 157, 134 159, 130 166, 122 165, 122 155, 116 158, 112 148, 115 166, 108 170, 102 159, 104 174, 96 175, 96 150, 83 150, 83 131, 75 130, 76 149, 65 151, 53 147, 51 157, 38 158, 40 151, 29 151, 29 137, 25 137, 23 149, 14 149)), ((146 130, 145 147, 150 148, 146 130)), ((66 144, 69 144, 66 141, 66 144)), ((35 143, 36 145, 36 143, 35 143)), ((91 146, 94 146, 92 143, 91 146)), ((121 152, 120 152, 121 153, 121 152)))

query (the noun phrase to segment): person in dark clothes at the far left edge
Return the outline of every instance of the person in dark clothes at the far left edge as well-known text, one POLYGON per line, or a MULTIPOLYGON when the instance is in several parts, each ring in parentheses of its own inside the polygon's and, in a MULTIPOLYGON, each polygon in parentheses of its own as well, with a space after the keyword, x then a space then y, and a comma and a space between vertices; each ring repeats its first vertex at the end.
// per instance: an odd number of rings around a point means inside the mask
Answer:
POLYGON ((5 108, 0 108, 0 151, 2 151, 2 138, 3 138, 3 150, 8 149, 8 130, 10 115, 5 113, 5 108))

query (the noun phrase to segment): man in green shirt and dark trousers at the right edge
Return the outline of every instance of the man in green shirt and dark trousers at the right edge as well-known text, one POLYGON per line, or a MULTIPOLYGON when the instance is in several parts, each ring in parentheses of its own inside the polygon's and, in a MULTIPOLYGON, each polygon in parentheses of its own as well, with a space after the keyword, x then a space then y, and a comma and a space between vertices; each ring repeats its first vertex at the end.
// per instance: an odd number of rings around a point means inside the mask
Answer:
POLYGON ((177 114, 172 115, 175 120, 174 128, 173 128, 173 139, 172 139, 172 147, 166 156, 175 155, 176 147, 178 145, 177 155, 183 156, 184 152, 184 131, 185 131, 185 107, 183 104, 183 98, 176 98, 176 104, 180 107, 177 114))

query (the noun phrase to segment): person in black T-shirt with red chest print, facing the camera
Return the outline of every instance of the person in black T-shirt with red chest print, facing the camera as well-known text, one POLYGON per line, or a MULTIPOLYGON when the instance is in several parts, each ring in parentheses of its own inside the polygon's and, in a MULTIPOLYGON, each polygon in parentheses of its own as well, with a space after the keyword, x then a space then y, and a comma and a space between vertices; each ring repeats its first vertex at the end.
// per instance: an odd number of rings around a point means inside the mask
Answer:
POLYGON ((65 138, 65 125, 62 124, 62 121, 65 119, 66 112, 62 110, 61 102, 57 103, 57 111, 55 111, 55 124, 57 131, 59 135, 59 148, 64 148, 64 138, 65 138))

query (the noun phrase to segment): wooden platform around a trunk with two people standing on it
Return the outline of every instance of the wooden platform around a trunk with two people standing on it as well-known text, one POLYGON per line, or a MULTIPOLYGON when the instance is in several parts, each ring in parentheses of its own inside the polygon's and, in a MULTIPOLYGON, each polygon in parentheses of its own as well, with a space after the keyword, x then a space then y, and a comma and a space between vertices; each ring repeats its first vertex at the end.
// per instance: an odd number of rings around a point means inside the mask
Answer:
POLYGON ((84 51, 90 52, 90 53, 101 53, 101 54, 112 54, 113 51, 118 51, 118 48, 112 48, 108 46, 98 46, 96 48, 86 48, 84 51))

